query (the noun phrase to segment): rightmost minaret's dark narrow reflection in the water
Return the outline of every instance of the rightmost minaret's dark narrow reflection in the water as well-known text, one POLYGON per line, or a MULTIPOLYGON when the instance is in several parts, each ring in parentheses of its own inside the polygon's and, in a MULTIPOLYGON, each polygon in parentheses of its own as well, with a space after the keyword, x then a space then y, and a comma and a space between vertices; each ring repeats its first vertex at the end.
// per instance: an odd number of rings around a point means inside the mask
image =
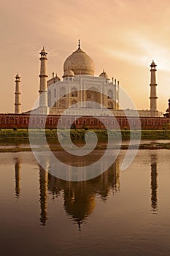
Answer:
POLYGON ((158 171, 157 171, 157 159, 155 155, 151 155, 151 206, 153 213, 157 214, 158 211, 158 171))

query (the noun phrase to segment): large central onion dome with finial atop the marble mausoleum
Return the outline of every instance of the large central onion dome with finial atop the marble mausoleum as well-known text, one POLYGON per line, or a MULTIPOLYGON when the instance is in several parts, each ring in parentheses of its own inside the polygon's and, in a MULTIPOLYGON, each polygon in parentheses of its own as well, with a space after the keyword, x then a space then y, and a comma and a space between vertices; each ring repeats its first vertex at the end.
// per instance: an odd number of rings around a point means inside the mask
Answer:
POLYGON ((80 48, 80 40, 78 49, 70 55, 63 64, 63 72, 71 69, 74 75, 94 75, 94 62, 80 48))

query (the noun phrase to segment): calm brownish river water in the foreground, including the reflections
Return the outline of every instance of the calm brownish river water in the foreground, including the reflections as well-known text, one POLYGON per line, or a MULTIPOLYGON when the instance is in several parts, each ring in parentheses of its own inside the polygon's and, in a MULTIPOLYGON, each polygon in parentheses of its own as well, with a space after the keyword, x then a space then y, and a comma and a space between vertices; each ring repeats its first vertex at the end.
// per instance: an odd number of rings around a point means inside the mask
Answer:
POLYGON ((124 155, 69 182, 31 152, 1 153, 0 255, 170 255, 169 151, 140 150, 122 172, 124 155))

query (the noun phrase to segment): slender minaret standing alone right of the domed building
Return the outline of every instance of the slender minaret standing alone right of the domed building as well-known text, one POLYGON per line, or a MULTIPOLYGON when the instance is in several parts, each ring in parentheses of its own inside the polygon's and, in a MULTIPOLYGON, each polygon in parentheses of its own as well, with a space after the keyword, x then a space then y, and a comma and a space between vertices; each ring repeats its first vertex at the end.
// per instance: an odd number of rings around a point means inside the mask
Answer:
POLYGON ((150 76, 150 116, 156 117, 158 116, 158 110, 157 110, 157 93, 156 93, 156 64, 154 61, 152 61, 150 65, 151 69, 151 76, 150 76))

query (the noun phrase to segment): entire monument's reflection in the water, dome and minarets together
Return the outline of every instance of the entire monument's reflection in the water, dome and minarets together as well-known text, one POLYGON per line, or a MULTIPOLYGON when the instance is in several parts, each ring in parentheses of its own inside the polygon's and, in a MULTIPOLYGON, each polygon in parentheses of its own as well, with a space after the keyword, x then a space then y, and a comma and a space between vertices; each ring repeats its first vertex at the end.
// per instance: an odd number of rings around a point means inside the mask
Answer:
MULTIPOLYGON (((15 158, 15 197, 18 200, 22 194, 20 189, 22 183, 21 166, 21 159, 15 158)), ((155 154, 150 156, 150 180, 151 211, 156 214, 158 211, 158 170, 155 154)), ((53 197, 53 200, 58 200, 59 197, 63 196, 63 208, 66 215, 77 222, 81 230, 82 224, 93 214, 96 207, 96 197, 100 197, 105 202, 111 193, 115 194, 119 191, 120 168, 118 160, 101 176, 81 182, 63 181, 39 167, 40 223, 47 225, 47 198, 53 197)))

